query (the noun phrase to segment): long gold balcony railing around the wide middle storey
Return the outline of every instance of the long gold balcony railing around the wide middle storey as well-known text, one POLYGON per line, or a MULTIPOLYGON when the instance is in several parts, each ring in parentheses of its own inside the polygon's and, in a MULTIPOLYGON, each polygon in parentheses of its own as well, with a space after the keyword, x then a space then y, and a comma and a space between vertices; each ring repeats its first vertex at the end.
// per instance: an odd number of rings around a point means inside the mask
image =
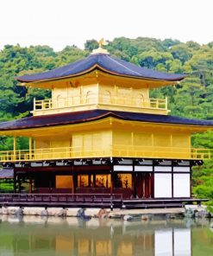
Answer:
POLYGON ((213 157, 213 150, 113 145, 112 147, 100 147, 98 149, 84 149, 82 147, 63 147, 36 150, 0 151, 0 163, 75 159, 86 157, 144 157, 203 160, 213 157))

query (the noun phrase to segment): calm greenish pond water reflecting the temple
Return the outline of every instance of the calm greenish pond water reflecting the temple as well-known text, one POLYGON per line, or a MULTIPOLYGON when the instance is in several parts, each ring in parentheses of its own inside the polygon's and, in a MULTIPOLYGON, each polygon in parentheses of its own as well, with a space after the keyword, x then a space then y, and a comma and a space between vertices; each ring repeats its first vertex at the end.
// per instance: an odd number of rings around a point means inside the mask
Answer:
POLYGON ((208 220, 121 221, 0 216, 0 255, 213 255, 208 220))

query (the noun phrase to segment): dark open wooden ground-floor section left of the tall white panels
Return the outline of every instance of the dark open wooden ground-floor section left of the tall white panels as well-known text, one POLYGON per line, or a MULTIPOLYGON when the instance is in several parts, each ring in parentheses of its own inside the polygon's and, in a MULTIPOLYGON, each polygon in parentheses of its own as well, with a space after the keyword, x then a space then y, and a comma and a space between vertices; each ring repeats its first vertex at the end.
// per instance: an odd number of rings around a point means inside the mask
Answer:
POLYGON ((113 171, 110 166, 15 169, 15 193, 115 194, 153 198, 153 173, 113 171))

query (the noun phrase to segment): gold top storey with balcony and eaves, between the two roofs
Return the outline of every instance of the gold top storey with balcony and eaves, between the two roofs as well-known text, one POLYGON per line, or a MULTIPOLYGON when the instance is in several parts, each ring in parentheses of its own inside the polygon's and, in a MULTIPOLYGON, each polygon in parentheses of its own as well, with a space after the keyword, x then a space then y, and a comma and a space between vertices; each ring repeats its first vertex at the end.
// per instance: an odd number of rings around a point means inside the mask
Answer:
POLYGON ((96 69, 74 78, 22 85, 52 91, 52 99, 34 99, 32 113, 41 116, 92 109, 167 115, 167 99, 150 99, 149 90, 168 84, 176 82, 120 77, 96 69))

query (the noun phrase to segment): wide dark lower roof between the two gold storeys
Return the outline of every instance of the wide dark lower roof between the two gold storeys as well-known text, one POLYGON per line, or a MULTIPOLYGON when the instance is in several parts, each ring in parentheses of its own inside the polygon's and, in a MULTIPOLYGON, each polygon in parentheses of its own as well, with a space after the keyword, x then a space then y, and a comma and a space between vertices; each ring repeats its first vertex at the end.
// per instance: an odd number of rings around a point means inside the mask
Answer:
POLYGON ((26 129, 34 127, 46 127, 55 125, 69 125, 89 122, 92 120, 114 117, 123 120, 162 123, 162 124, 177 124, 177 125, 199 125, 212 126, 213 121, 179 118, 167 115, 154 115, 136 112, 117 112, 107 110, 91 110, 85 112, 68 112, 60 114, 52 114, 45 116, 34 116, 22 118, 14 121, 0 123, 0 131, 26 129))

